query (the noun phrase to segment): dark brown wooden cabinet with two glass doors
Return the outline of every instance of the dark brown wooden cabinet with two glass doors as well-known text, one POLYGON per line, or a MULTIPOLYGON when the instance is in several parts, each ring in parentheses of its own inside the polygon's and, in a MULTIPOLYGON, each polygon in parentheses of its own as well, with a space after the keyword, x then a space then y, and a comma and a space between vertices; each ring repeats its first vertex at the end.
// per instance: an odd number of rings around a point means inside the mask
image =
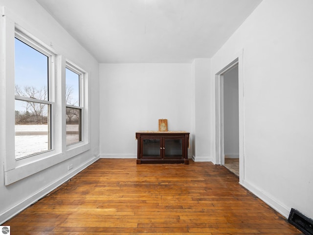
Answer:
POLYGON ((189 164, 188 132, 136 132, 136 140, 137 164, 189 164))

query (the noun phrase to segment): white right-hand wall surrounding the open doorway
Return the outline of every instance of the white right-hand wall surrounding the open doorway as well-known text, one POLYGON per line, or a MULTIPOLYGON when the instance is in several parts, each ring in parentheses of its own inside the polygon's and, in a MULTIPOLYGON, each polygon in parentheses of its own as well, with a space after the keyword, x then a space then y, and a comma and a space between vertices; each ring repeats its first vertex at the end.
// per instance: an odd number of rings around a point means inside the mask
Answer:
POLYGON ((212 58, 213 78, 244 49, 243 185, 286 217, 313 218, 312 12, 312 0, 263 0, 212 58))

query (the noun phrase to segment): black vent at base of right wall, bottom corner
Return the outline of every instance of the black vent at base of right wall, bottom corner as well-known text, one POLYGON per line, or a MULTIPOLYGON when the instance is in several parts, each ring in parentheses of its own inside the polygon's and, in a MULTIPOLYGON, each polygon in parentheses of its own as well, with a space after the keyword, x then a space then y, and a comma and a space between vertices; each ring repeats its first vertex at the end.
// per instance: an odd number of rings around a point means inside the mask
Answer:
POLYGON ((291 208, 288 222, 305 235, 313 235, 313 220, 293 208, 291 208))

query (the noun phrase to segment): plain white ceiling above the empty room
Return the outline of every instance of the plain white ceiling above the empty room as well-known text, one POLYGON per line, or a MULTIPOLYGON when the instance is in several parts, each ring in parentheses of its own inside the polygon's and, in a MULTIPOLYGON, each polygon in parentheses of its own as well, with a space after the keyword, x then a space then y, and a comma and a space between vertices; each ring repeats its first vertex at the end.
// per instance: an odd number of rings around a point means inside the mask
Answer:
POLYGON ((210 58, 262 0, 37 0, 99 63, 210 58))

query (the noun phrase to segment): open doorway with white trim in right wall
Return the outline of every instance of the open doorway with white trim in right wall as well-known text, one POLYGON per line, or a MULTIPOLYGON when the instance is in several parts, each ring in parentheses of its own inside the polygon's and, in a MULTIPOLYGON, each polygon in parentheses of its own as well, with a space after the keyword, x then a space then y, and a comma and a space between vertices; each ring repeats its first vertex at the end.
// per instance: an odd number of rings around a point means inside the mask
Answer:
POLYGON ((243 80, 241 51, 215 75, 215 164, 225 165, 225 160, 226 164, 236 162, 234 173, 239 175, 240 184, 244 182, 245 173, 243 80))

